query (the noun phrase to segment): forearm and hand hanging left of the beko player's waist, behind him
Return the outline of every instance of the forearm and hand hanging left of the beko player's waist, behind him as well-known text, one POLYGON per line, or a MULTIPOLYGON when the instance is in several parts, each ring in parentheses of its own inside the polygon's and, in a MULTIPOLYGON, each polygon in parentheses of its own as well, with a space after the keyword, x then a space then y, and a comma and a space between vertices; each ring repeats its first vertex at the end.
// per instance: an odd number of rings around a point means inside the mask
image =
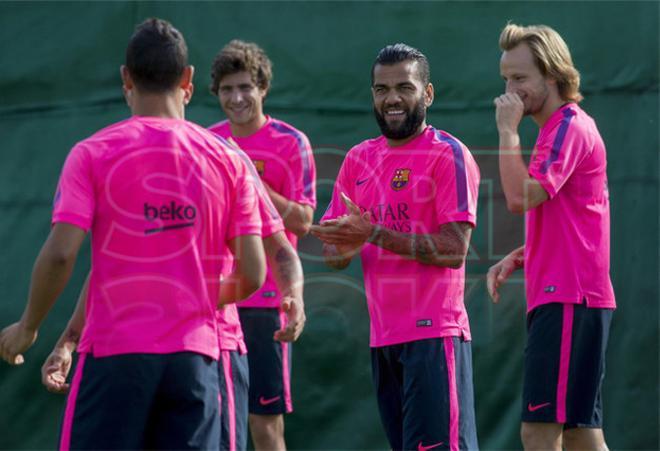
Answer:
POLYGON ((69 323, 41 367, 41 383, 48 391, 53 393, 66 393, 69 391, 66 378, 71 370, 73 351, 78 347, 80 335, 85 327, 85 303, 88 290, 89 274, 87 274, 85 284, 80 290, 78 303, 69 323))

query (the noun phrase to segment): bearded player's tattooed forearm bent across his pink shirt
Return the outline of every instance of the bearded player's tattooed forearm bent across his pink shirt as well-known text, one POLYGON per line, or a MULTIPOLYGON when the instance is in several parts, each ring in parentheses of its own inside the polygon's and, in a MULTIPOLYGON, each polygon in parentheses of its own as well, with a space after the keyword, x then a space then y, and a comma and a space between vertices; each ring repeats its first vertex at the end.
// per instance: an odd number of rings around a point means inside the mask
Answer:
POLYGON ((369 241, 426 265, 456 269, 465 261, 470 233, 471 227, 464 223, 445 225, 443 233, 433 235, 407 234, 377 226, 369 241), (451 230, 454 227, 457 230, 451 230))

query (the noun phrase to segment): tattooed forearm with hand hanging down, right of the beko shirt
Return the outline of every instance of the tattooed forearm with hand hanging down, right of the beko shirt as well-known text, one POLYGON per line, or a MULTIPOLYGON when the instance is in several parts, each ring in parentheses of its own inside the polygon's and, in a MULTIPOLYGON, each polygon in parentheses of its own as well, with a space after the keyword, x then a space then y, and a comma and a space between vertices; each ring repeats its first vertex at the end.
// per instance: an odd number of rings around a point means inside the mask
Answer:
POLYGON ((287 315, 287 324, 276 331, 273 338, 279 341, 295 341, 305 326, 300 258, 284 232, 265 237, 264 250, 277 288, 282 294, 282 310, 287 315))

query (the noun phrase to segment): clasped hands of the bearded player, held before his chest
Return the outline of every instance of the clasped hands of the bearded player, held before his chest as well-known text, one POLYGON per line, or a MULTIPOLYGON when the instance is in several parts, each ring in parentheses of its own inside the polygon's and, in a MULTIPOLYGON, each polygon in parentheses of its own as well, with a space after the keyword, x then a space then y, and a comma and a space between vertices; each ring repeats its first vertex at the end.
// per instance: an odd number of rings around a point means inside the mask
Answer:
POLYGON ((320 225, 313 225, 311 233, 326 244, 338 245, 341 253, 355 253, 374 232, 371 223, 371 214, 367 211, 362 213, 360 207, 355 205, 344 193, 341 198, 349 214, 335 219, 323 221, 320 225))

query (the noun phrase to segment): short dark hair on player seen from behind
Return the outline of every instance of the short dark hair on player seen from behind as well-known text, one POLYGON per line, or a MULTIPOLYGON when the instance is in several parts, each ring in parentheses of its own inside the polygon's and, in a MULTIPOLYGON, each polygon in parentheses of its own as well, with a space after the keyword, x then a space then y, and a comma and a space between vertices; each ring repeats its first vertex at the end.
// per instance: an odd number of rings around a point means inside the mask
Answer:
POLYGON ((126 67, 139 90, 174 88, 188 65, 183 35, 166 20, 150 18, 135 27, 126 47, 126 67))

